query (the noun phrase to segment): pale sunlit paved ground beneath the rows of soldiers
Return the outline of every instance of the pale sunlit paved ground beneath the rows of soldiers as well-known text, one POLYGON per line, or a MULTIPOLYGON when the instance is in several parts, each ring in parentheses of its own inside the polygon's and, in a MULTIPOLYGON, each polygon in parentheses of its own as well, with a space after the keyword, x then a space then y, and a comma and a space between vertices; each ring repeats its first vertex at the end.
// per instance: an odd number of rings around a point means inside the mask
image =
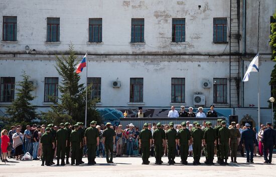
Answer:
POLYGON ((150 157, 149 165, 142 165, 141 157, 116 157, 113 164, 100 157, 96 158, 96 165, 90 166, 86 165, 87 158, 83 160, 85 163, 79 166, 41 166, 40 160, 12 159, 6 165, 0 162, 0 176, 276 176, 276 154, 273 154, 272 164, 264 164, 263 157, 259 156, 254 157, 254 163, 246 163, 245 157, 238 157, 238 164, 229 165, 206 165, 205 157, 201 157, 201 165, 192 165, 193 157, 188 157, 188 165, 180 164, 180 157, 176 157, 175 165, 168 165, 167 157, 162 157, 162 165, 154 164, 154 157, 150 157))

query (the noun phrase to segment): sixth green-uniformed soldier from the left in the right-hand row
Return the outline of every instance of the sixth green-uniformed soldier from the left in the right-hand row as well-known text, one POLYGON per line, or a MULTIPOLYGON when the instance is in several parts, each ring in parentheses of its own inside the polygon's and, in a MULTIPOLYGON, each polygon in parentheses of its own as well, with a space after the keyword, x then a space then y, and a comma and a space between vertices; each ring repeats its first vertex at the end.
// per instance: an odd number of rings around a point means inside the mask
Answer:
MULTIPOLYGON (((207 124, 207 123, 206 123, 207 124)), ((214 151, 215 151, 215 141, 217 135, 216 131, 212 128, 212 122, 208 122, 208 128, 204 131, 204 144, 206 145, 206 164, 214 164, 214 151)))

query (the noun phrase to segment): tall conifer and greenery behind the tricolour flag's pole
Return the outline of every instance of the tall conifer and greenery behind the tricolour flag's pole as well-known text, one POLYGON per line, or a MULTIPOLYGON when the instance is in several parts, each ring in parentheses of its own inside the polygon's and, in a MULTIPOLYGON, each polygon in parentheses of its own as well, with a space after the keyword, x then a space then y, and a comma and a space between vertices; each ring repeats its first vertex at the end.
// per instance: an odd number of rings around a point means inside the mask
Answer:
MULTIPOLYGON (((65 56, 57 57, 55 67, 62 78, 61 85, 59 85, 61 97, 58 102, 51 98, 51 101, 54 102, 54 105, 51 106, 52 110, 43 114, 43 120, 48 123, 85 122, 86 87, 83 83, 79 84, 80 75, 76 73, 76 58, 72 44, 69 45, 67 58, 65 56)), ((89 99, 91 85, 87 89, 87 124, 90 123, 90 120, 102 122, 101 116, 96 110, 98 100, 89 99)))

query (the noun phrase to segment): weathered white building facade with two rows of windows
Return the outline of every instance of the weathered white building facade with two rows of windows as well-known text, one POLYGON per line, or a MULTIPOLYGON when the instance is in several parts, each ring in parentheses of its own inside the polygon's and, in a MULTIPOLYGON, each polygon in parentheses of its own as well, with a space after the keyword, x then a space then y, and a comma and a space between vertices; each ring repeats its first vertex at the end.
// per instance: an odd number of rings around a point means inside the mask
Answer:
POLYGON ((256 107, 258 74, 241 80, 257 52, 260 107, 268 108, 273 0, 260 4, 258 50, 257 2, 3 0, 0 5, 3 112, 23 70, 36 86, 33 104, 49 109, 48 94, 60 96, 55 55, 67 55, 70 43, 79 60, 88 53, 88 80, 99 108, 213 104, 234 114, 237 107, 256 107))

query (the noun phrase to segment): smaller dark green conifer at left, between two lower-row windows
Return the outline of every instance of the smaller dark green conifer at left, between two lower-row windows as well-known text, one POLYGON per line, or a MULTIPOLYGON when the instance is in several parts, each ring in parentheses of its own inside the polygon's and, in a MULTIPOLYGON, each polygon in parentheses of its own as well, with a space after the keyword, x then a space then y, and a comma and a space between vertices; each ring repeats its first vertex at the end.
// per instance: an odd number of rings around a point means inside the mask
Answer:
POLYGON ((11 115, 9 122, 31 122, 36 118, 36 108, 30 103, 35 98, 31 94, 34 88, 29 82, 30 76, 25 71, 22 73, 23 81, 17 83, 16 99, 7 108, 7 113, 11 115))

